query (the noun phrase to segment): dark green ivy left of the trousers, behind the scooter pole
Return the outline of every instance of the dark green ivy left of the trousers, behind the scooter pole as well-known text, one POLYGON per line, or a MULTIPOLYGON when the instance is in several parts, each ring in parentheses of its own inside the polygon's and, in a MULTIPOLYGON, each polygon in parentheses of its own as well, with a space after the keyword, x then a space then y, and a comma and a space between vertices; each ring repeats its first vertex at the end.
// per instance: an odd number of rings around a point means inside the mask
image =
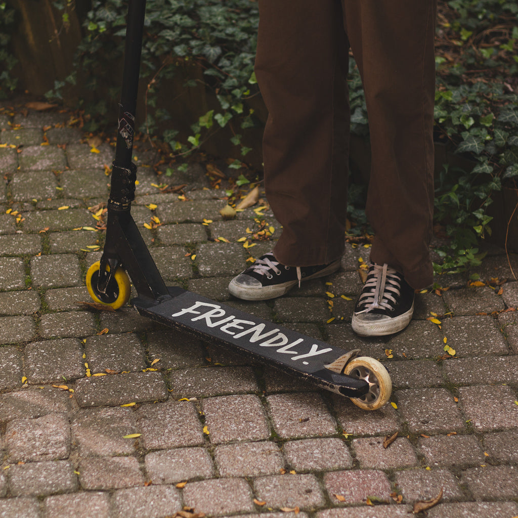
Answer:
MULTIPOLYGON (((123 55, 126 10, 122 0, 94 0, 84 22, 86 36, 78 48, 77 69, 66 82, 80 79, 91 92, 107 89, 108 95, 96 95, 85 106, 96 116, 89 129, 95 129, 102 120, 99 116, 108 115, 109 103, 118 100, 120 75, 113 77, 113 67, 123 55)), ((141 62, 141 78, 148 87, 141 130, 156 134, 157 125, 170 119, 157 94, 164 79, 178 75, 187 78, 186 87, 212 89, 219 106, 199 113, 185 141, 177 140, 178 128, 169 124, 161 137, 172 152, 184 154, 199 147, 231 121, 242 130, 254 126, 246 99, 258 91, 253 76, 257 23, 257 6, 250 0, 148 0, 141 62), (201 78, 196 76, 199 69, 201 78)), ((65 82, 56 83, 49 96, 60 97, 64 86, 65 82)), ((241 144, 240 135, 234 138, 246 154, 249 148, 241 144)))

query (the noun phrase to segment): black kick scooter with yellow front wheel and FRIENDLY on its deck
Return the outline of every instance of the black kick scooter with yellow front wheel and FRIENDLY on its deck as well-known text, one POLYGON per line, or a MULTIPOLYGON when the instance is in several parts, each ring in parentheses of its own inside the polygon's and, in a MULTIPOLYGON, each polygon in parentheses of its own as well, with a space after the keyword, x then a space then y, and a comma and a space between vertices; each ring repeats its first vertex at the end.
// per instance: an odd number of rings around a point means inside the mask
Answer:
POLYGON ((382 407, 392 392, 389 373, 376 359, 358 357, 359 349, 344 353, 179 286, 165 285, 131 215, 137 178, 132 154, 145 12, 146 0, 129 0, 106 240, 100 261, 87 272, 90 296, 99 304, 121 308, 130 299, 131 278, 138 296, 130 304, 141 315, 347 396, 362 409, 382 407))

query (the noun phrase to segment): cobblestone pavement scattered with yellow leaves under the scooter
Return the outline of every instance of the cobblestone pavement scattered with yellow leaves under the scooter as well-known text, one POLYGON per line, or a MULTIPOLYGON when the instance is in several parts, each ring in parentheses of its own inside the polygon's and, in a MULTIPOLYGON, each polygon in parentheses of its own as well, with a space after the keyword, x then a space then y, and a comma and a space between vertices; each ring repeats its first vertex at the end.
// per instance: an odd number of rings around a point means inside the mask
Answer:
POLYGON ((184 506, 398 518, 441 488, 430 517, 518 515, 516 257, 491 249, 470 272, 478 285, 438 278, 449 289, 419 294, 408 329, 359 339, 349 321, 368 249, 348 246, 339 272, 275 301, 233 300, 229 278, 270 249, 239 241, 257 207, 223 221, 222 190, 201 166, 166 177, 187 184, 184 199, 163 193, 137 149, 133 213, 164 278, 381 359, 392 405, 362 411, 130 307, 78 304, 90 300, 85 271, 104 237, 88 208, 106 202, 113 148, 92 150, 68 117, 0 112, 1 518, 162 517, 184 506))

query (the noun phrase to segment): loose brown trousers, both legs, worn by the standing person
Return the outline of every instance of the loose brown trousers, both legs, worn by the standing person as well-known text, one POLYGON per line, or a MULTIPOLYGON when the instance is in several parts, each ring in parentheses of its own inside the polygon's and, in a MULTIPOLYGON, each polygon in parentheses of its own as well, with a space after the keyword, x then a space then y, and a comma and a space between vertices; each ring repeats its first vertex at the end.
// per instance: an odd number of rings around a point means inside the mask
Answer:
POLYGON ((268 108, 268 201, 290 266, 344 250, 349 48, 367 101, 371 261, 419 289, 432 282, 436 0, 259 0, 256 77, 268 108))

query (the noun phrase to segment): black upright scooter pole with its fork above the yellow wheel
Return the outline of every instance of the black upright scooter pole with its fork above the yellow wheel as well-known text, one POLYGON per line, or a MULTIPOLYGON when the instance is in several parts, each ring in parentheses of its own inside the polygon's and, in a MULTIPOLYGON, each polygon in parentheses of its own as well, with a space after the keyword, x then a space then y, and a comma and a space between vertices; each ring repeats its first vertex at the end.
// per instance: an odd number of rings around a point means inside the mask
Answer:
POLYGON ((146 0, 129 0, 117 146, 111 172, 106 242, 97 282, 100 297, 103 294, 108 297, 107 287, 118 266, 127 271, 139 297, 156 300, 168 296, 167 287, 130 213, 137 179, 132 154, 145 13, 146 0))

